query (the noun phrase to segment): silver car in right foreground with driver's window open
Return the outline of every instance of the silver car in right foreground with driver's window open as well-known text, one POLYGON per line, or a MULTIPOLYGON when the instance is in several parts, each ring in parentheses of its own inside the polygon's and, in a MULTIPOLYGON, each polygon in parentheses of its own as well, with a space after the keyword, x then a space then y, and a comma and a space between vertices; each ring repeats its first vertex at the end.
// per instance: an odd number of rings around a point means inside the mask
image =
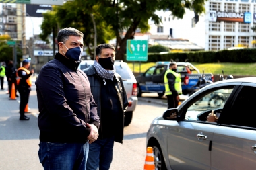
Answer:
POLYGON ((218 81, 153 120, 156 169, 256 169, 256 77, 218 81), (212 113, 213 112, 213 113, 212 113), (214 114, 216 122, 208 116, 214 114))

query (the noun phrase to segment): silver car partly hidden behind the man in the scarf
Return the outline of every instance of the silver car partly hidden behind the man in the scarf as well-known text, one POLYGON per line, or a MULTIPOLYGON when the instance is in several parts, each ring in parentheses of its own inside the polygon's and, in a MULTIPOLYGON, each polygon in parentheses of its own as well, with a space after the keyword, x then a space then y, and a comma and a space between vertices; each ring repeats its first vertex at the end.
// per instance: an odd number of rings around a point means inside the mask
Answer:
MULTIPOLYGON (((79 69, 86 69, 90 65, 93 65, 94 60, 82 60, 79 65, 79 69)), ((127 65, 127 63, 116 60, 115 61, 115 69, 116 72, 122 77, 123 85, 125 87, 125 91, 128 97, 129 105, 125 112, 125 126, 128 126, 131 123, 133 118, 133 111, 137 105, 137 81, 131 72, 131 69, 127 65)))

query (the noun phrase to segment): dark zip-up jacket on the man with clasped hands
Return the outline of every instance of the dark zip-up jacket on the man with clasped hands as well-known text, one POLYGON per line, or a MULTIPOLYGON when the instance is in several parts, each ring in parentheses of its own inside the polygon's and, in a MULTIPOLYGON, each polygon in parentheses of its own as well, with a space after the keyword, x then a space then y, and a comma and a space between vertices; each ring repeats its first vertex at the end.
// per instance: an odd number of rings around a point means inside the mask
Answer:
POLYGON ((86 142, 86 123, 100 126, 90 83, 77 66, 57 53, 40 70, 36 92, 42 142, 86 142))

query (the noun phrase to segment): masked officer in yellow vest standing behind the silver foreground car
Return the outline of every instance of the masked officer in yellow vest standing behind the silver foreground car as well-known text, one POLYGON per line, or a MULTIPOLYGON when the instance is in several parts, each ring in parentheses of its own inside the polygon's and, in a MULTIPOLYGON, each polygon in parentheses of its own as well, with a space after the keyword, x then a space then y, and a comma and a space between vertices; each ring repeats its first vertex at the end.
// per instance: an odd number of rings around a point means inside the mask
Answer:
POLYGON ((169 69, 164 74, 165 95, 168 101, 168 109, 178 106, 179 95, 182 93, 181 74, 176 71, 176 62, 170 62, 169 69))

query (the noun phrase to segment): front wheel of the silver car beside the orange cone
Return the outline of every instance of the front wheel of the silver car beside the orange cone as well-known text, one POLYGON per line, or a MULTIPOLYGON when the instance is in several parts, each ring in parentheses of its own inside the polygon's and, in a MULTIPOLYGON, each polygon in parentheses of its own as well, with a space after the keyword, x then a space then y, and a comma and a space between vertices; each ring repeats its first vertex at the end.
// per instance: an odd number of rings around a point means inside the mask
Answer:
POLYGON ((158 143, 150 144, 150 146, 153 148, 153 155, 154 155, 154 164, 156 169, 158 170, 167 170, 166 165, 164 162, 164 157, 162 155, 162 150, 158 143))

